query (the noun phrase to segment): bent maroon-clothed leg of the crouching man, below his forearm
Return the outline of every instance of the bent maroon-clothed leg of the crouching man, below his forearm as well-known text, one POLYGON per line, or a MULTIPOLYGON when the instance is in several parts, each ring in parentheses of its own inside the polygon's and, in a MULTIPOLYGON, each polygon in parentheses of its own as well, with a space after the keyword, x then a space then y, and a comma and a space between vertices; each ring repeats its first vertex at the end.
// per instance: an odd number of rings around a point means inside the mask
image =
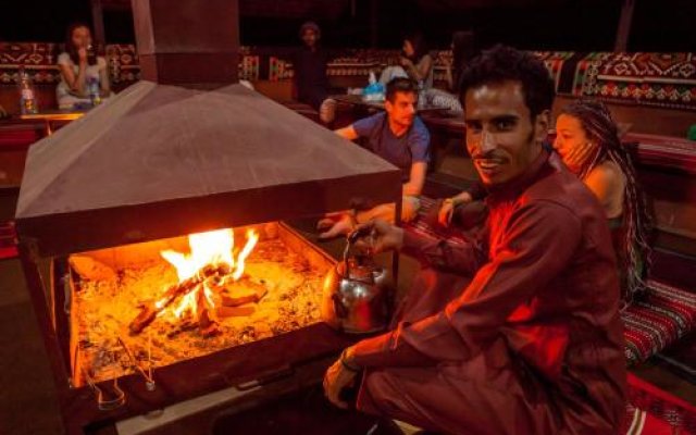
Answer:
POLYGON ((369 370, 357 406, 451 434, 558 434, 560 410, 545 391, 501 338, 460 364, 369 370))

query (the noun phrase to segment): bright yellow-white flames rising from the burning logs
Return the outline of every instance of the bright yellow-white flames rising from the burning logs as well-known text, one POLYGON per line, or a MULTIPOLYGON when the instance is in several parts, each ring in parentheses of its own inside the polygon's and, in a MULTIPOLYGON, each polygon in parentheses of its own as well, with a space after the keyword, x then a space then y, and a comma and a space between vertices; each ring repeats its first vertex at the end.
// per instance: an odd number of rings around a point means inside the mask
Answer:
MULTIPOLYGON (((225 275, 224 279, 237 281, 244 274, 245 261, 259 241, 259 235, 253 229, 247 231, 247 243, 238 253, 236 261, 234 237, 232 228, 190 234, 188 236, 189 254, 174 250, 164 250, 160 254, 176 268, 179 284, 194 278, 208 266, 224 268, 231 271, 231 274, 225 275)), ((192 291, 188 291, 178 306, 173 309, 177 318, 181 319, 185 313, 190 312, 197 319, 201 315, 200 308, 212 311, 215 307, 212 298, 213 293, 208 282, 200 281, 201 283, 192 291)), ((156 307, 161 309, 166 303, 166 299, 160 299, 156 302, 156 307)))

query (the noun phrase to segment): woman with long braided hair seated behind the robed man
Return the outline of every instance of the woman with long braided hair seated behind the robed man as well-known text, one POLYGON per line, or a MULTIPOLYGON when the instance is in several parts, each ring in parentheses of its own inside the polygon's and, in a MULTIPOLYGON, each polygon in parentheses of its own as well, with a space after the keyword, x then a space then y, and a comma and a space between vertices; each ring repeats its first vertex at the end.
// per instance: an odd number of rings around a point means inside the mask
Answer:
POLYGON ((607 107, 577 100, 561 110, 554 148, 605 209, 617 251, 623 303, 645 289, 651 215, 629 150, 607 107))

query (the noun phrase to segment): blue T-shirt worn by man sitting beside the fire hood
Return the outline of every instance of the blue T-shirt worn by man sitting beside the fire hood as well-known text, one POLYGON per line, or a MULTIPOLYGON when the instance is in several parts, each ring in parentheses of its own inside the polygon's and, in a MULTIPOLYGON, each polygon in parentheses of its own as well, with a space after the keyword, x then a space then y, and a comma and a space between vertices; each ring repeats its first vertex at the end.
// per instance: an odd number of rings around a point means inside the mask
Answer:
POLYGON ((431 135, 418 116, 406 134, 399 137, 391 133, 386 112, 357 121, 352 127, 358 136, 368 138, 368 147, 372 152, 401 170, 403 183, 411 176, 413 162, 427 163, 430 160, 431 135))

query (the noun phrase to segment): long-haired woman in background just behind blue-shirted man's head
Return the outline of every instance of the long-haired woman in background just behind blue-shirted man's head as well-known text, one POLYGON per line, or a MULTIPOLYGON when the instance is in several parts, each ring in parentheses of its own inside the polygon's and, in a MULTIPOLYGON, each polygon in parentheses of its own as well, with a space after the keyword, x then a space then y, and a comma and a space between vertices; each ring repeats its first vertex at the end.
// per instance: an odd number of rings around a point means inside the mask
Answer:
POLYGON ((413 34, 403 39, 400 66, 388 66, 380 76, 380 83, 386 86, 395 77, 408 77, 422 84, 424 90, 433 87, 433 58, 430 54, 422 34, 413 34))

